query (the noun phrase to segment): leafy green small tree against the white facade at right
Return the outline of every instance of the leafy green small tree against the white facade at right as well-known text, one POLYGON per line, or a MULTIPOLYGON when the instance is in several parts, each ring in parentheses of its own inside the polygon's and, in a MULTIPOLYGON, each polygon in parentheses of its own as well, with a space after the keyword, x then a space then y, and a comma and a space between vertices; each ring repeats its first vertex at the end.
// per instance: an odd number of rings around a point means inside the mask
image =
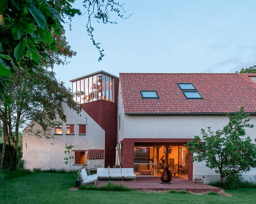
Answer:
POLYGON ((187 142, 189 153, 196 153, 193 161, 206 162, 206 166, 220 174, 225 185, 228 178, 247 172, 256 167, 256 144, 246 137, 245 127, 249 124, 249 114, 244 114, 244 107, 236 114, 227 114, 229 122, 215 133, 208 127, 208 132, 201 129, 202 138, 195 136, 187 142))

